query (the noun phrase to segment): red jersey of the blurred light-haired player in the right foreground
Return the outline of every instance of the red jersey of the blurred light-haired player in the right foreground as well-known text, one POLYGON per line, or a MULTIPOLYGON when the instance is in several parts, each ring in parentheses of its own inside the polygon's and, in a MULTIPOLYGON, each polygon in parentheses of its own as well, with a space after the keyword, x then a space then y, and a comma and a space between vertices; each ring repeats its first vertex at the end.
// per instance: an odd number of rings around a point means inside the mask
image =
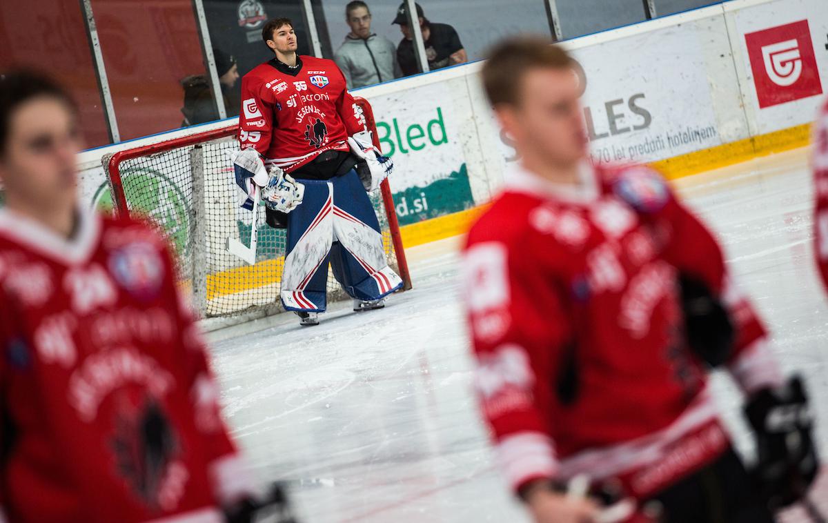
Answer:
POLYGON ((474 386, 515 489, 585 473, 647 497, 729 447, 686 347, 677 271, 729 307, 743 389, 781 382, 714 238, 647 167, 585 164, 579 189, 515 170, 461 266, 474 386))

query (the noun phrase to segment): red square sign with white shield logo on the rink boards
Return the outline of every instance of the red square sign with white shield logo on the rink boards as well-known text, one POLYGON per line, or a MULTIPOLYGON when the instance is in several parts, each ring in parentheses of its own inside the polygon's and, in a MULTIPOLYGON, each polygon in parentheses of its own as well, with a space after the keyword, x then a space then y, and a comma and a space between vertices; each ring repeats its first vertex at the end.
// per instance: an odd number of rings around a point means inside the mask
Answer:
POLYGON ((744 36, 759 108, 822 93, 807 20, 744 36))

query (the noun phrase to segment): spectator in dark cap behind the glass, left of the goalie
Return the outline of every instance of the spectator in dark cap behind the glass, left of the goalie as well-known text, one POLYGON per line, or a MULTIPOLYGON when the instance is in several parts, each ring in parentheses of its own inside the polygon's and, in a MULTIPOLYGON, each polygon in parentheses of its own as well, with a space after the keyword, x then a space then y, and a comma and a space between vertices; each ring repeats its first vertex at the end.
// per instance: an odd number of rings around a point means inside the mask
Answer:
MULTIPOLYGON (((227 116, 236 116, 238 114, 238 103, 229 100, 231 89, 238 81, 236 59, 217 48, 213 49, 213 58, 216 73, 219 74, 222 103, 224 103, 227 116)), ((209 78, 206 74, 187 76, 181 80, 181 87, 184 88, 184 107, 181 108, 184 121, 181 122, 181 127, 213 122, 219 119, 219 112, 213 102, 213 89, 210 88, 209 78)))

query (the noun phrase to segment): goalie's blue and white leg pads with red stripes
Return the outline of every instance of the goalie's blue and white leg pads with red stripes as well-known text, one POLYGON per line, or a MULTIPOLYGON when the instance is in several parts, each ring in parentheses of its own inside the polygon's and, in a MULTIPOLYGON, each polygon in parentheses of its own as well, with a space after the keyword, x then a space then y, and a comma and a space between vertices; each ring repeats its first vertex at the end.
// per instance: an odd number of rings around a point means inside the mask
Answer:
POLYGON ((330 180, 296 181, 305 185, 305 198, 287 215, 285 309, 325 311, 329 263, 357 300, 379 300, 402 288, 388 266, 377 215, 356 170, 330 180))

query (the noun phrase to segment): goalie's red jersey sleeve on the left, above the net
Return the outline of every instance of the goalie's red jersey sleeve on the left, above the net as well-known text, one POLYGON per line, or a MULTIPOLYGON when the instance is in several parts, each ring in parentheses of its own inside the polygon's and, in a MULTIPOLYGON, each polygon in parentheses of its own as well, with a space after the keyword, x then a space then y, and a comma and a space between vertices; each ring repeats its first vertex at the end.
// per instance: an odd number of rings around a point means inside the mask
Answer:
POLYGON ((242 110, 238 113, 238 143, 242 149, 253 147, 264 157, 273 136, 274 103, 262 80, 242 79, 242 110))

